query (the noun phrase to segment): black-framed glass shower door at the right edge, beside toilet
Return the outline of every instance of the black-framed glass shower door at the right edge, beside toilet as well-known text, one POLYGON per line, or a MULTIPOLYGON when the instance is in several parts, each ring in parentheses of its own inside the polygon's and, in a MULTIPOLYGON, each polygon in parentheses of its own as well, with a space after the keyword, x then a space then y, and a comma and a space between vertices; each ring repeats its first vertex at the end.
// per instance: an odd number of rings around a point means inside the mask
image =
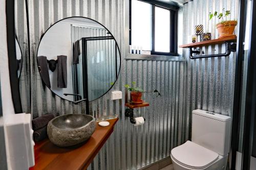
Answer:
MULTIPOLYGON (((238 49, 239 56, 241 57, 241 84, 240 84, 240 106, 234 106, 233 113, 239 113, 238 116, 233 115, 233 132, 232 132, 232 151, 231 153, 236 155, 236 159, 231 159, 231 169, 256 169, 256 130, 254 127, 255 122, 255 105, 256 105, 256 59, 255 54, 255 14, 256 14, 256 0, 240 1, 240 19, 244 17, 242 21, 243 25, 239 26, 239 39, 243 38, 242 48, 238 49), (242 53, 241 53, 242 52, 242 53), (237 123, 237 124, 236 124, 237 123), (237 126, 237 132, 236 132, 237 126), (238 133, 239 132, 239 133, 238 133), (237 133, 237 139, 233 136, 237 133), (234 152, 234 150, 236 152, 234 152), (235 163, 234 163, 235 162, 235 163)), ((238 43, 241 42, 238 39, 238 43)), ((238 44, 241 46, 241 44, 238 44)), ((238 60, 239 61, 239 60, 238 60)), ((239 65, 239 63, 238 63, 239 65)), ((238 66, 239 67, 239 66, 238 66)), ((239 84, 239 82, 236 82, 239 84)), ((239 85, 237 85, 239 86, 239 85)), ((239 88, 238 88, 239 89, 239 88)), ((236 92, 235 92, 236 93, 236 92)), ((238 99, 234 99, 235 101, 238 99)), ((236 102, 234 102, 235 104, 236 102)))

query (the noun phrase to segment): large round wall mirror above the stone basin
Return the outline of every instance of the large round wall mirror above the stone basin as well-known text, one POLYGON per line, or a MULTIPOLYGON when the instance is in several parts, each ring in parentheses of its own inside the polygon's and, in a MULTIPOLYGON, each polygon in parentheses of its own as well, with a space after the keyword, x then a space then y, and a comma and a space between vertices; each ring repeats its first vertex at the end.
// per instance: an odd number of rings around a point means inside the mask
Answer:
POLYGON ((108 92, 120 71, 113 35, 95 20, 62 19, 42 36, 37 64, 44 84, 69 101, 94 101, 108 92))

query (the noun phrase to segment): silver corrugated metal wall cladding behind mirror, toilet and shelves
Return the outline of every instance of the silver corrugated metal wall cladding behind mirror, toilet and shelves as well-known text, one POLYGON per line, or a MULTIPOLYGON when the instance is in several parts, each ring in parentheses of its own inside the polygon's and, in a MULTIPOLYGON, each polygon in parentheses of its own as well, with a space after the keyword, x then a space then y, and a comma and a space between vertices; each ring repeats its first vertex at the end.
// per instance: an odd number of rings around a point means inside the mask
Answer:
MULTIPOLYGON (((136 115, 146 118, 145 124, 140 127, 132 126, 129 119, 125 118, 124 100, 111 101, 110 93, 91 103, 91 109, 96 111, 97 117, 117 114, 120 119, 114 133, 89 169, 137 169, 168 156, 172 148, 189 138, 193 109, 202 108, 231 115, 235 66, 233 55, 190 60, 187 51, 183 50, 185 62, 124 60, 123 0, 28 0, 28 4, 33 117, 46 113, 59 115, 85 112, 82 103, 75 106, 42 86, 37 71, 36 53, 40 36, 54 22, 69 16, 95 19, 116 38, 121 50, 121 72, 114 89, 124 90, 124 84, 136 81, 145 90, 157 89, 162 94, 157 97, 146 93, 143 96, 151 106, 135 110, 136 115)), ((207 15, 211 10, 220 10, 222 7, 230 8, 232 17, 237 17, 237 12, 234 11, 238 11, 238 0, 197 0, 185 4, 183 43, 186 43, 186 37, 193 32, 194 25, 199 23, 203 23, 206 31, 217 38, 216 21, 209 22, 207 15)), ((221 52, 224 46, 207 47, 206 54, 213 49, 221 52)), ((28 53, 25 56, 27 59, 28 53)))

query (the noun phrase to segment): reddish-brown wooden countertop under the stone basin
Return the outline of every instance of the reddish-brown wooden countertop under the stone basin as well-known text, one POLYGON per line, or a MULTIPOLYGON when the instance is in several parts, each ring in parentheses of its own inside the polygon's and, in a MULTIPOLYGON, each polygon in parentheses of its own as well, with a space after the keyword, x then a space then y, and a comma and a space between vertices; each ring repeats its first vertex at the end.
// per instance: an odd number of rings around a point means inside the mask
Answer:
POLYGON ((35 144, 35 166, 30 170, 65 170, 87 169, 103 144, 110 137, 118 118, 106 120, 110 126, 100 127, 97 123, 96 130, 86 142, 73 147, 57 147, 45 139, 35 144))

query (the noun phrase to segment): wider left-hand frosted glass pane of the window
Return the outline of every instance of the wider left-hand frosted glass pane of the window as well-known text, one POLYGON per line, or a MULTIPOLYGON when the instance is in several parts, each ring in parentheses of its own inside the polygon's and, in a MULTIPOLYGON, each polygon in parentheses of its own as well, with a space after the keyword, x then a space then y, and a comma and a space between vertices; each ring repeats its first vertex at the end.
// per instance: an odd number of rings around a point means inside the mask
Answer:
POLYGON ((152 5, 132 0, 132 45, 152 50, 152 5))

